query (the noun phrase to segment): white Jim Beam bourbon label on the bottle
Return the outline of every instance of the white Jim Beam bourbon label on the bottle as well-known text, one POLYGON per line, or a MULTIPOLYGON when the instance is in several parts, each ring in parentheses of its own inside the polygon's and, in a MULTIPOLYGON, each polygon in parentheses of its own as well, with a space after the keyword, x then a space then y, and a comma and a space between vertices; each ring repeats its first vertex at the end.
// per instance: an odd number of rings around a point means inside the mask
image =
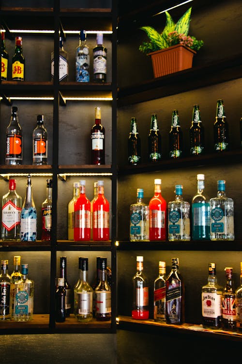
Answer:
POLYGON ((221 295, 215 292, 202 292, 202 316, 211 318, 222 316, 221 295))

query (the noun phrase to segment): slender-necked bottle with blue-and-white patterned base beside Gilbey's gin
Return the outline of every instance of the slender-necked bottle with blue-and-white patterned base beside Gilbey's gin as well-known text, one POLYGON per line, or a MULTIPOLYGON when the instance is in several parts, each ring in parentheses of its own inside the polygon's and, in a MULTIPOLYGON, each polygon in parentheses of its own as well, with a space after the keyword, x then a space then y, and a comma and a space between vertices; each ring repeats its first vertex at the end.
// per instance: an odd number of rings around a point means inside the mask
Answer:
POLYGON ((37 213, 32 196, 30 174, 28 175, 26 195, 20 218, 20 240, 35 241, 37 235, 37 213))

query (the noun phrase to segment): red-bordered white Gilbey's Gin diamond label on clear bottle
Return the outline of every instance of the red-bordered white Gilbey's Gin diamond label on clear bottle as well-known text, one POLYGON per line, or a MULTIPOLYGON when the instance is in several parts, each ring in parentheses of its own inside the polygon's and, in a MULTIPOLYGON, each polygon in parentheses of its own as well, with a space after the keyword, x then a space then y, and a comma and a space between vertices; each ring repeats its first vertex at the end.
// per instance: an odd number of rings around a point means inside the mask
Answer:
POLYGON ((2 226, 10 232, 15 226, 20 224, 21 208, 17 207, 12 201, 8 201, 2 206, 2 226))

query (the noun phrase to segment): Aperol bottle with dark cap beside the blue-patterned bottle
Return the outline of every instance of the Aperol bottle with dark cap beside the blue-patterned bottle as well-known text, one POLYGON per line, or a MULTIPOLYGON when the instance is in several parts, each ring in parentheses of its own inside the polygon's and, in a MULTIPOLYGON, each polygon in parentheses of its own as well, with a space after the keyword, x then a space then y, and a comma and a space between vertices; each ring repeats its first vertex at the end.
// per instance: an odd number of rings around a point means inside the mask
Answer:
POLYGON ((46 199, 42 203, 42 234, 41 240, 51 240, 52 228, 52 179, 46 180, 46 199))

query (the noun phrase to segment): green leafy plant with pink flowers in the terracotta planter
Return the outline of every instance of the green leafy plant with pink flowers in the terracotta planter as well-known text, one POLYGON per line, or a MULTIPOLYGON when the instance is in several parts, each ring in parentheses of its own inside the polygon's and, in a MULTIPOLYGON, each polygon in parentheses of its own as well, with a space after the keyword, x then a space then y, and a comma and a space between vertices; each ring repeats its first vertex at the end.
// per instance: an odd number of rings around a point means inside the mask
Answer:
POLYGON ((143 42, 139 46, 139 50, 144 53, 150 53, 155 50, 175 46, 176 44, 181 44, 192 50, 199 50, 203 46, 203 41, 188 35, 191 11, 192 8, 189 8, 177 23, 174 23, 172 17, 166 11, 166 26, 162 33, 158 33, 150 26, 141 27, 140 29, 145 31, 150 38, 150 42, 143 42))

